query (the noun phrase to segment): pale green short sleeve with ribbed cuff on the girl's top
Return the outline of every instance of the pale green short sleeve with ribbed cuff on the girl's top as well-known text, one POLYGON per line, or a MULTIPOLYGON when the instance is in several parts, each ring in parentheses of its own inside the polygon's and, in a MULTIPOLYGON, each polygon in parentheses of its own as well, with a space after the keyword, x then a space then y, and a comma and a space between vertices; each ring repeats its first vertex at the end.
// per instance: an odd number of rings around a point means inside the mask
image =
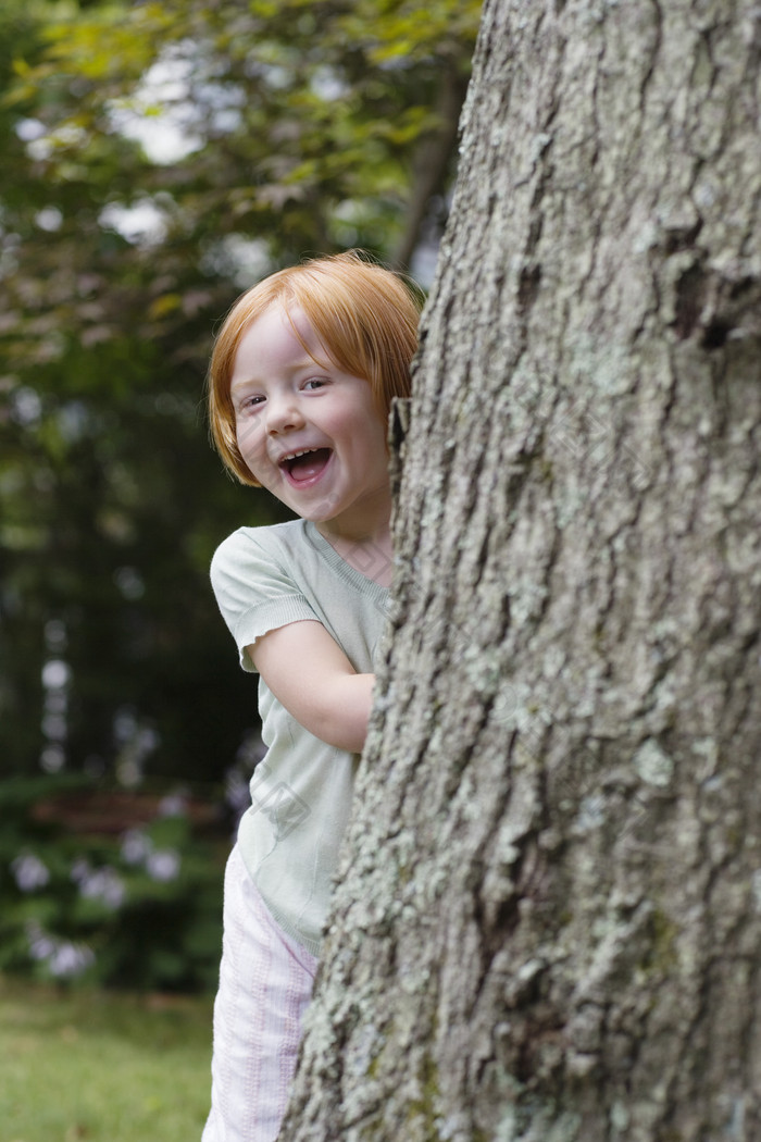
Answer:
POLYGON ((298 584, 268 550, 267 529, 241 529, 225 539, 211 561, 211 586, 235 640, 244 670, 256 673, 246 646, 268 630, 319 621, 298 584), (259 531, 259 534, 257 534, 259 531))

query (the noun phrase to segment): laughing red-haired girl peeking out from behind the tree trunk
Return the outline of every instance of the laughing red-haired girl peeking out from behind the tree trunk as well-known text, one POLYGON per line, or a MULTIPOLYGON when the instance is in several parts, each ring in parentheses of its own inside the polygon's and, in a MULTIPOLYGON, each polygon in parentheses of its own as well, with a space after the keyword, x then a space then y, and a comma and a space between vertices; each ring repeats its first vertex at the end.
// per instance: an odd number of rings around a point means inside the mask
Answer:
POLYGON ((387 421, 418 317, 395 274, 350 252, 249 290, 214 346, 217 448, 300 518, 241 528, 211 565, 268 748, 225 876, 203 1142, 274 1142, 285 1110, 367 729, 391 574, 387 421))

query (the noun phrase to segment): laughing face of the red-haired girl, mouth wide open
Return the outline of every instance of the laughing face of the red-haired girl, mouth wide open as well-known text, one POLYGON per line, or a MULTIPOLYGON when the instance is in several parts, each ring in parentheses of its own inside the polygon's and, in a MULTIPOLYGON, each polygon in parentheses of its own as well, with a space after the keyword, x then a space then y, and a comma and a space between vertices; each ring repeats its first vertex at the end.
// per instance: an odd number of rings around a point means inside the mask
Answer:
POLYGON ((278 303, 241 338, 230 378, 237 445, 293 512, 326 537, 359 540, 390 513, 384 427, 370 383, 330 360, 303 314, 292 317, 303 344, 278 303))

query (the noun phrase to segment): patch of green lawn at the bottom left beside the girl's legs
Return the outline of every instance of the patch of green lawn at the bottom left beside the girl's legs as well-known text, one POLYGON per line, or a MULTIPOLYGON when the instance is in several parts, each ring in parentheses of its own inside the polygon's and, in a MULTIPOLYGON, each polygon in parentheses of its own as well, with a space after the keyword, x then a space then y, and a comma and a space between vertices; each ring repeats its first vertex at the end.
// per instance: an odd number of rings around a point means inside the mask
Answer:
POLYGON ((199 1142, 211 1004, 0 976, 0 1142, 199 1142))

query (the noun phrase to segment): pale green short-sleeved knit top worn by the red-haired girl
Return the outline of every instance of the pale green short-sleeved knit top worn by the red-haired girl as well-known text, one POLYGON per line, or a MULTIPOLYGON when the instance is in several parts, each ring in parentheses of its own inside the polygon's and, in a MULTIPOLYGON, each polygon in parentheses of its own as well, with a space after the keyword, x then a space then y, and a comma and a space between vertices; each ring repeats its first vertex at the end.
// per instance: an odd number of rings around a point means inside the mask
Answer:
MULTIPOLYGON (((322 622, 358 674, 374 670, 388 589, 342 560, 313 523, 238 529, 217 548, 211 582, 244 670, 256 669, 246 646, 301 619, 322 622)), ((358 756, 305 730, 264 678, 259 714, 267 753, 238 845, 274 918, 318 955, 358 756)))

